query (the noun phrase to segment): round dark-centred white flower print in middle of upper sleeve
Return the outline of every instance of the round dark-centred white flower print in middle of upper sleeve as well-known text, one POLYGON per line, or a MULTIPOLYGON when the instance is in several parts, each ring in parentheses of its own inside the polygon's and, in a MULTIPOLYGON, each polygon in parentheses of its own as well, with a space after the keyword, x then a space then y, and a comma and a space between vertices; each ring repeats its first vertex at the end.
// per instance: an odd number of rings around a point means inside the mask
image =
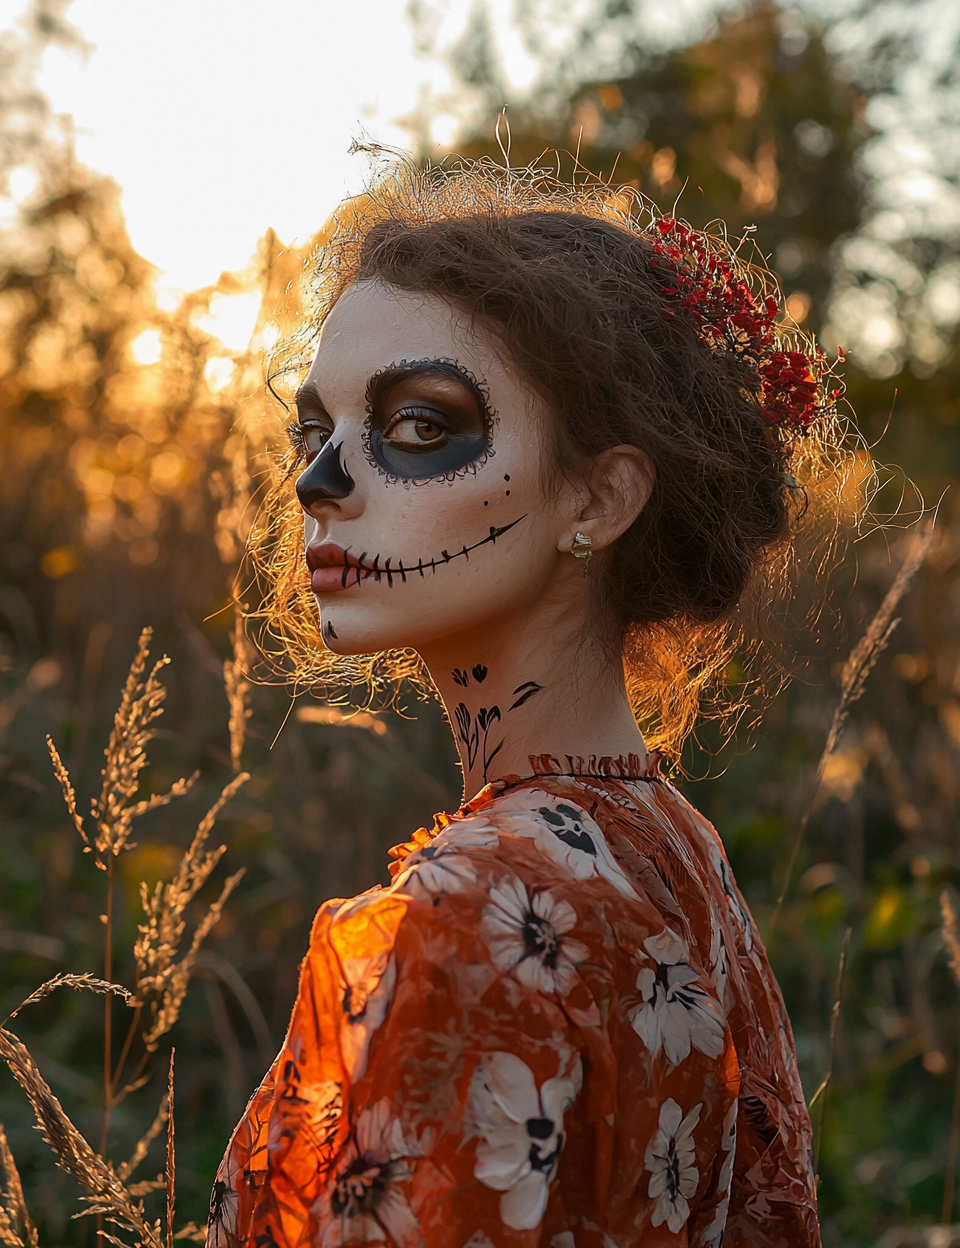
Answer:
POLYGON ((494 965, 509 971, 534 992, 564 995, 577 982, 577 962, 587 946, 567 936, 577 911, 549 892, 528 895, 523 882, 508 876, 489 891, 481 932, 494 965))

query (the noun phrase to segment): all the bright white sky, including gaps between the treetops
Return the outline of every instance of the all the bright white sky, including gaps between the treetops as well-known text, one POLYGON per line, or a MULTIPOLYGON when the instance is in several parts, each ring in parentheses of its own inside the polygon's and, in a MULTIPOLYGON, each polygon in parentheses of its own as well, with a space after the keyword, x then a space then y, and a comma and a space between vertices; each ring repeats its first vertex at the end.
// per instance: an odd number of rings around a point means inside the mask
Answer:
MULTIPOLYGON (((0 0, 0 27, 24 5, 0 0)), ((645 46, 667 46, 695 37, 727 6, 729 0, 645 0, 632 29, 645 46)), ((39 85, 57 112, 72 117, 80 160, 120 183, 134 246, 161 271, 161 302, 216 282, 223 270, 245 268, 271 226, 286 243, 310 237, 362 185, 367 162, 348 155, 353 139, 409 147, 413 129, 404 119, 419 114, 429 119, 431 141, 456 141, 469 104, 444 56, 463 39, 476 0, 417 0, 424 17, 417 31, 412 7, 408 0, 67 5, 65 16, 89 52, 49 50, 39 85)), ((517 0, 486 0, 486 7, 506 92, 516 101, 538 62, 513 21, 517 0)), ((814 16, 831 11, 829 37, 843 55, 895 41, 903 21, 895 0, 868 12, 855 0, 799 0, 799 7, 814 16)), ((615 64, 623 31, 612 19, 594 30, 589 15, 597 9, 598 0, 524 0, 527 32, 552 72, 577 29, 592 29, 600 60, 615 64)), ((949 77, 960 5, 914 0, 910 14, 918 55, 904 59, 895 90, 870 102, 873 137, 859 156, 868 211, 845 252, 854 270, 876 280, 840 291, 833 307, 844 341, 856 341, 865 361, 900 333, 900 240, 954 237, 960 221, 960 96, 936 86, 949 77)), ((953 270, 935 277, 933 295, 941 288, 955 302, 953 270)), ((243 327, 236 332, 242 337, 243 327)))

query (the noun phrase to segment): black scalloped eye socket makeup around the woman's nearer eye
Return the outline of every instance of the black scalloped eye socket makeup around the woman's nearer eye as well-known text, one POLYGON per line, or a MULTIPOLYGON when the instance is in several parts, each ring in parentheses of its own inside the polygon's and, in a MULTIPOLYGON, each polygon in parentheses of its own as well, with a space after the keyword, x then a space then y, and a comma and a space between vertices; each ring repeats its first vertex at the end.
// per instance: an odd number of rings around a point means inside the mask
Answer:
POLYGON ((493 454, 493 413, 454 359, 401 359, 367 384, 363 451, 388 480, 453 480, 493 454))

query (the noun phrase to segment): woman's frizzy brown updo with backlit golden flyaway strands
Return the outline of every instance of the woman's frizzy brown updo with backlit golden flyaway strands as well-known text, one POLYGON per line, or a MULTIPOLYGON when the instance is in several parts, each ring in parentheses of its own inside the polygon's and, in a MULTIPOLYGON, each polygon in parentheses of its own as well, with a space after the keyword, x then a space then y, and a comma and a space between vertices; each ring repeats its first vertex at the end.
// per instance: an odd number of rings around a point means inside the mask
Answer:
MULTIPOLYGON (((800 518, 811 499, 831 500, 813 510, 836 515, 851 456, 835 406, 825 403, 803 437, 771 423, 737 353, 709 346, 675 313, 670 268, 650 262, 653 225, 632 192, 564 185, 537 168, 392 163, 325 232, 306 314, 273 373, 301 376, 342 292, 380 280, 446 300, 502 343, 554 417, 559 470, 609 447, 642 448, 655 467, 653 493, 590 575, 648 741, 675 755, 698 715, 729 721, 744 704, 743 683, 724 679, 744 645, 738 608, 748 593, 768 608, 783 594, 800 518)), ((698 237, 759 298, 769 295, 770 276, 725 237, 698 237)), ((776 337, 813 356, 791 323, 776 337)), ((250 544, 265 582, 253 613, 265 649, 301 688, 327 696, 362 683, 373 698, 403 679, 423 691, 412 651, 326 649, 301 543, 298 504, 278 480, 250 544)))

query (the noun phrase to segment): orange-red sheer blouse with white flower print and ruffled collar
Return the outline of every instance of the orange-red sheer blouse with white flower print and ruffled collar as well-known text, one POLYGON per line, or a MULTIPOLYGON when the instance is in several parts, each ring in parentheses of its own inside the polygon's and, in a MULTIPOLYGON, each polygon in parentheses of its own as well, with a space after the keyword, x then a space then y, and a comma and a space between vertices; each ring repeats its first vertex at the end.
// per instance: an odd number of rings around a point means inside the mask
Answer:
POLYGON ((808 1248, 790 1025, 657 759, 531 759, 313 924, 208 1248, 808 1248))

